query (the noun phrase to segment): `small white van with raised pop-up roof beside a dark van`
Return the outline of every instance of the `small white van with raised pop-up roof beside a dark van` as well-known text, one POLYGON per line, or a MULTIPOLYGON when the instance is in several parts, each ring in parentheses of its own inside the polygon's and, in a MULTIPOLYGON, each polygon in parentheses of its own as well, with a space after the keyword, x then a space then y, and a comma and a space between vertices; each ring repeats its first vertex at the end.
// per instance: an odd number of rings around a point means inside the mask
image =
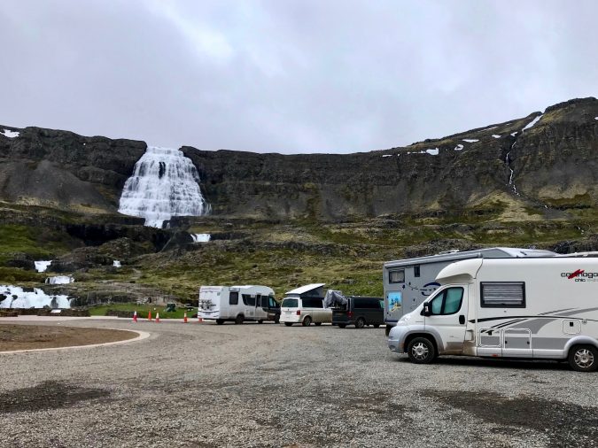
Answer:
POLYGON ((284 295, 280 308, 280 321, 287 327, 293 323, 300 323, 309 327, 332 323, 332 310, 324 308, 325 283, 313 283, 296 290, 290 290, 284 295))

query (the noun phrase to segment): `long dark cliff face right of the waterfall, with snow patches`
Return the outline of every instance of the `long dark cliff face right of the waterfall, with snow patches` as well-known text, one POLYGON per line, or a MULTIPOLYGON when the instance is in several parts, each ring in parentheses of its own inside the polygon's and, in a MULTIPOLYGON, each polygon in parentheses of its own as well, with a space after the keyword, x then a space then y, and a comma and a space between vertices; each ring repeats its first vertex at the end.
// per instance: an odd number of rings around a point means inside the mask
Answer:
POLYGON ((406 148, 348 155, 254 154, 184 147, 214 213, 339 218, 450 210, 495 199, 595 205, 598 100, 406 148))

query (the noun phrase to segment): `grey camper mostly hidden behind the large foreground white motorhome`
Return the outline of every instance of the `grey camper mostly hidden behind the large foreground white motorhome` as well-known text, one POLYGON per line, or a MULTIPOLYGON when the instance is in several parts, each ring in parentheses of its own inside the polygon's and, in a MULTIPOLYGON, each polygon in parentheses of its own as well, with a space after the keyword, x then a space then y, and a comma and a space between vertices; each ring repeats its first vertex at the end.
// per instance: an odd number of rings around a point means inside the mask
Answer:
POLYGON ((554 257, 555 252, 514 247, 490 247, 477 251, 447 251, 427 257, 384 263, 384 323, 386 336, 407 313, 411 313, 439 286, 436 276, 446 266, 462 259, 513 259, 554 257))

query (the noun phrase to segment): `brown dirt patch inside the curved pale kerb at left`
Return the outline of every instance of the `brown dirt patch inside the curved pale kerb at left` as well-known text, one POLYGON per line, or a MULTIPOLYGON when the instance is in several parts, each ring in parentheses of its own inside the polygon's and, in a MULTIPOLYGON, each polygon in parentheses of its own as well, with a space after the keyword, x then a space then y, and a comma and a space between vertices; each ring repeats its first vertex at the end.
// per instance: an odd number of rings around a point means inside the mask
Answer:
POLYGON ((0 351, 104 344, 138 336, 132 331, 42 325, 0 325, 0 351))

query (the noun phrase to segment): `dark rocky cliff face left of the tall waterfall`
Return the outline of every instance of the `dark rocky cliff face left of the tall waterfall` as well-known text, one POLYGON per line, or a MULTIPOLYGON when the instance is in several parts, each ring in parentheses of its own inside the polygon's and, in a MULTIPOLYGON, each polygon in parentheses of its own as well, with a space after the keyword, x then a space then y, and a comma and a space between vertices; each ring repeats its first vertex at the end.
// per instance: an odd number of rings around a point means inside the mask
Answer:
POLYGON ((144 142, 0 126, 0 200, 82 212, 116 212, 144 142))

